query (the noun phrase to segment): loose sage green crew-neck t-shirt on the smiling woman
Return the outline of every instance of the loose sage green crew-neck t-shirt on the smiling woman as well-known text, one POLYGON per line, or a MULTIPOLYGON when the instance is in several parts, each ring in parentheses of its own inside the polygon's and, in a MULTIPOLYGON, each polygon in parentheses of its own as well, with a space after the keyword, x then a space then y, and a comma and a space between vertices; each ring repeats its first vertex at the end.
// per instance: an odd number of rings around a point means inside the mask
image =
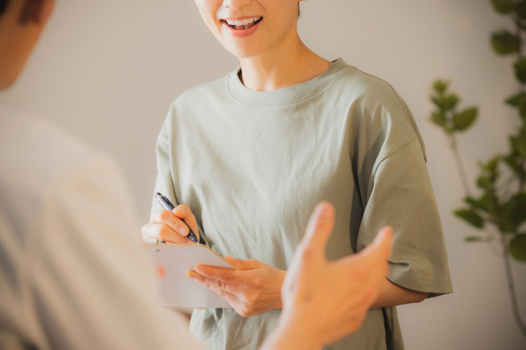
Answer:
MULTIPOLYGON (((390 224, 388 279, 431 296, 451 293, 423 141, 395 90, 341 58, 276 91, 249 90, 238 73, 171 105, 157 141, 155 192, 188 204, 220 255, 281 270, 316 204, 329 201, 336 209, 329 260, 362 250, 390 224)), ((401 349, 396 309, 385 311, 401 349)), ((211 349, 256 349, 279 312, 245 318, 231 308, 196 310, 190 330, 211 349)), ((382 309, 370 310, 358 332, 327 348, 385 349, 385 334, 382 309)))

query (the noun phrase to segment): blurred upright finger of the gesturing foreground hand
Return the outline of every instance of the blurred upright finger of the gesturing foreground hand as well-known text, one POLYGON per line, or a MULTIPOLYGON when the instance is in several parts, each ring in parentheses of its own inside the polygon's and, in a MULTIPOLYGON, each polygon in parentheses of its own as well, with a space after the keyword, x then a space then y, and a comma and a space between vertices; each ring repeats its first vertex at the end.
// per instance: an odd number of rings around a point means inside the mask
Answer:
POLYGON ((335 212, 332 204, 321 202, 310 216, 301 245, 319 254, 325 254, 327 240, 334 228, 335 212))

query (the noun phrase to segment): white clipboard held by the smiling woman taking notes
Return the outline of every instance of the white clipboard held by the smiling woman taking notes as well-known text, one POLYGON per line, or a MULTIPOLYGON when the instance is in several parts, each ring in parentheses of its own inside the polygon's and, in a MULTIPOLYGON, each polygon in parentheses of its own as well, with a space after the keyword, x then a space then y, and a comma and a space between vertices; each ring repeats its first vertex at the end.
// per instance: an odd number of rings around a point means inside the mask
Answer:
POLYGON ((237 270, 219 254, 203 244, 159 243, 145 240, 144 246, 155 265, 163 267, 160 302, 163 306, 232 308, 219 294, 186 276, 197 265, 237 270))

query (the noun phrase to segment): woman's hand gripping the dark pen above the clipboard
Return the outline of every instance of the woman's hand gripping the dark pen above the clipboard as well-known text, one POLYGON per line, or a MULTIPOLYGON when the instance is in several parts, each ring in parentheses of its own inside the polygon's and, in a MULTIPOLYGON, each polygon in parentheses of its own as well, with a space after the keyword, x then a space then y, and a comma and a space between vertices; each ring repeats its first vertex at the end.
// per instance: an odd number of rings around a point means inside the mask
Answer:
POLYGON ((154 211, 151 213, 150 222, 140 229, 140 233, 143 239, 158 239, 178 244, 194 243, 186 237, 189 231, 185 222, 194 231, 197 241, 200 242, 196 218, 185 204, 177 205, 173 211, 154 211))

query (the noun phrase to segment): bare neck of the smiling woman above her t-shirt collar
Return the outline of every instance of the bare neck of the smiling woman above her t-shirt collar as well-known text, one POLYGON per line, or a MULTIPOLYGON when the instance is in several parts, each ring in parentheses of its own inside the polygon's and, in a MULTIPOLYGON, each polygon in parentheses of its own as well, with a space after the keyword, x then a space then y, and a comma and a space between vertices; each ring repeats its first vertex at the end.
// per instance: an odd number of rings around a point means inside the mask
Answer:
POLYGON ((303 83, 331 66, 313 53, 299 37, 256 57, 240 58, 242 83, 255 91, 273 91, 303 83))

